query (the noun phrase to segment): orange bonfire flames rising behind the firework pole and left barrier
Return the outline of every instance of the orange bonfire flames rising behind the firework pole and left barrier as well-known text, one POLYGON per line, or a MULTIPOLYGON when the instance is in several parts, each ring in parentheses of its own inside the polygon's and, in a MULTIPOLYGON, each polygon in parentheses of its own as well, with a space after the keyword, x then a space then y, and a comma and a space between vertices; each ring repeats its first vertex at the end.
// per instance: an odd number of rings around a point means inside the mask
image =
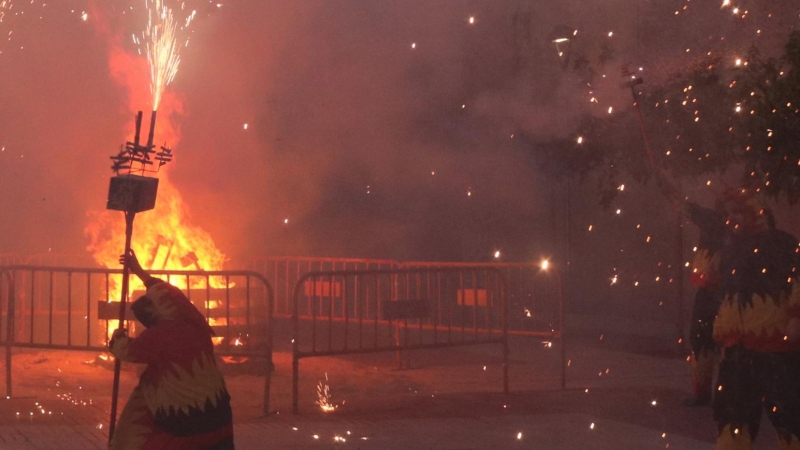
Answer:
MULTIPOLYGON (((131 118, 136 111, 142 109, 146 111, 145 117, 147 117, 149 112, 147 109, 152 101, 147 59, 126 51, 121 37, 114 35, 110 31, 111 27, 101 20, 97 20, 96 23, 98 31, 108 37, 109 72, 117 84, 127 90, 127 108, 131 111, 131 118)), ((180 140, 180 129, 176 118, 183 113, 183 103, 171 92, 165 92, 158 112, 155 141, 168 143, 174 147, 180 140)), ((126 136, 130 140, 134 133, 133 120, 128 128, 126 136)), ((146 135, 147 130, 142 132, 146 135)), ((180 151, 177 153, 180 154, 180 151)), ((180 192, 170 182, 167 172, 162 169, 159 178, 156 208, 138 214, 134 223, 132 248, 142 266, 145 269, 221 270, 225 255, 217 249, 214 240, 206 231, 191 223, 189 210, 180 192)), ((89 223, 84 229, 85 235, 90 240, 87 250, 101 266, 120 268, 119 256, 125 246, 123 215, 117 211, 90 211, 88 218, 89 223)), ((185 285, 184 277, 173 278, 171 282, 180 288, 205 287, 203 277, 193 278, 192 286, 185 285)), ((211 278, 210 283, 215 288, 225 287, 225 281, 222 279, 211 278)), ((138 280, 131 280, 131 289, 139 288, 141 285, 138 284, 138 280)), ((120 294, 121 277, 111 277, 107 300, 118 301, 120 294)), ((111 325, 110 329, 116 328, 113 326, 114 323, 111 325)))

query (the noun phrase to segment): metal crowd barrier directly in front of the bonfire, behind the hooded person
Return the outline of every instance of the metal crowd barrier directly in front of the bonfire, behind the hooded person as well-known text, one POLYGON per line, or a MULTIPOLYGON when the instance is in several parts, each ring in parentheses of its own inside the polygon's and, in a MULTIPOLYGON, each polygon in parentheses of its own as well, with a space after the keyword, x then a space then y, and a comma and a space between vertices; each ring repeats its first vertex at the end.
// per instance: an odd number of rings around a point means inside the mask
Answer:
MULTIPOLYGON (((214 329, 215 353, 223 358, 265 358, 264 411, 272 377, 273 291, 250 271, 153 270, 181 288, 214 329)), ((11 396, 13 347, 106 352, 108 322, 119 317, 121 270, 0 267, 0 344, 6 347, 6 393, 11 396), (110 298, 115 297, 115 298, 110 298), (103 326, 105 322, 105 326, 103 326), (2 327, 5 326, 5 335, 2 327)), ((134 285, 131 301, 144 294, 134 285)), ((126 317, 133 318, 130 308, 126 317)), ((132 335, 135 335, 135 324, 132 335)), ((115 327, 112 326, 111 328, 115 327)))

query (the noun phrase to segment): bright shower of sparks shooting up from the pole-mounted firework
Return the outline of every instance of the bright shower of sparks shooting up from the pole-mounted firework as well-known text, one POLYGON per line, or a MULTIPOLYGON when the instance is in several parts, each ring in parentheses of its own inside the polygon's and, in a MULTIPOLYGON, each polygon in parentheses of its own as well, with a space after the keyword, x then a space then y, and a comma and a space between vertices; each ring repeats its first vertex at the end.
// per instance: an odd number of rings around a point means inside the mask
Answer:
MULTIPOLYGON (((150 64, 150 93, 153 95, 153 111, 156 111, 164 90, 178 73, 181 58, 172 9, 164 6, 162 0, 151 0, 147 6, 149 15, 145 40, 147 62, 150 64)), ((192 17, 194 15, 187 19, 187 26, 192 17)))

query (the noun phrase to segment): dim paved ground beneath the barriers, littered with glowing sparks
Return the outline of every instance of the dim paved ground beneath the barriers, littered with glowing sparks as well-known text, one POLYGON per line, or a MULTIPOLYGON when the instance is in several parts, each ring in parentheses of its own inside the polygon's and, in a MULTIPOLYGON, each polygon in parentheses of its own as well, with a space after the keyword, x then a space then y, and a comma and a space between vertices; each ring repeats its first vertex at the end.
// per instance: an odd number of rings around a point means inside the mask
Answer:
MULTIPOLYGON (((713 448, 707 408, 681 406, 689 366, 678 358, 608 348, 581 338, 568 347, 560 390, 557 345, 514 342, 509 396, 497 348, 425 351, 412 370, 394 355, 301 363, 300 416, 290 413, 290 358, 276 354, 272 414, 263 379, 231 370, 238 449, 697 449, 713 448), (238 372, 238 373, 237 373, 238 372), (328 377, 338 409, 314 405, 328 377)), ((13 396, 0 400, 0 449, 104 448, 111 372, 96 355, 15 350, 13 396)), ((123 374, 123 402, 137 379, 123 374)), ((775 448, 769 426, 759 449, 775 448)))

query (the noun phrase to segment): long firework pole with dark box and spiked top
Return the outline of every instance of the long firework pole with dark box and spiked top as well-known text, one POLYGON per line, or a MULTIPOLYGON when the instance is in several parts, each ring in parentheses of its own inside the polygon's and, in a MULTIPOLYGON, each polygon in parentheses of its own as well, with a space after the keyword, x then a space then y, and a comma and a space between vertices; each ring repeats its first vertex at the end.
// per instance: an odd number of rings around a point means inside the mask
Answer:
MULTIPOLYGON (((150 118, 150 133, 147 144, 141 145, 139 138, 142 131, 142 112, 136 115, 136 134, 133 142, 127 142, 117 156, 112 156, 114 165, 111 169, 117 174, 111 178, 108 189, 108 203, 106 209, 122 211, 125 213, 125 265, 122 269, 122 294, 119 305, 119 330, 125 329, 125 310, 128 303, 128 278, 130 267, 127 255, 131 251, 131 237, 133 236, 133 219, 136 213, 149 211, 156 206, 156 193, 158 191, 158 178, 147 177, 145 174, 156 173, 166 163, 172 160, 172 150, 161 147, 156 152, 153 145, 153 134, 156 127, 156 112, 150 118)), ((119 397, 119 377, 121 361, 114 361, 114 386, 111 393, 111 420, 108 428, 109 442, 114 436, 117 422, 117 401, 119 397)))

